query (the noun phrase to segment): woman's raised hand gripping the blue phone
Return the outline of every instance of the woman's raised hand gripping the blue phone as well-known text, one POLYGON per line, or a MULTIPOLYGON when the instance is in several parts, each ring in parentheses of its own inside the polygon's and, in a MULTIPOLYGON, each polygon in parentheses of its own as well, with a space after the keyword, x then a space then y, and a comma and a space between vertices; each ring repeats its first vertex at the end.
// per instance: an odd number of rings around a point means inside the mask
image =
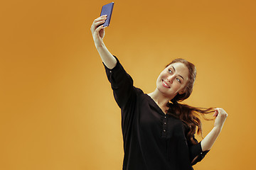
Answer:
POLYGON ((96 47, 101 47, 103 45, 105 30, 103 28, 103 25, 100 26, 100 24, 105 23, 106 19, 107 15, 100 16, 99 18, 95 19, 95 21, 93 21, 92 26, 90 28, 90 30, 92 31, 92 38, 95 42, 96 47))

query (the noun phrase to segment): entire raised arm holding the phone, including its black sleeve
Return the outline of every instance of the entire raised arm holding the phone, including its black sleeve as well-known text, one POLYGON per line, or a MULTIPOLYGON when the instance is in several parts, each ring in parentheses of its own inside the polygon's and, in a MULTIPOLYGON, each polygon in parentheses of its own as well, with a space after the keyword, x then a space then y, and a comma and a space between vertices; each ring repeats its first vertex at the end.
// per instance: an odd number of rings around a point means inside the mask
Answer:
MULTIPOLYGON (((105 65, 107 79, 110 81, 114 99, 117 101, 119 108, 124 110, 124 108, 129 108, 134 104, 136 91, 133 86, 132 77, 127 74, 118 59, 107 50, 103 42, 105 28, 100 25, 103 24, 106 19, 107 16, 100 16, 93 21, 91 26, 92 37, 95 42, 95 47, 105 65)), ((125 115, 124 117, 127 118, 129 115, 125 115)))

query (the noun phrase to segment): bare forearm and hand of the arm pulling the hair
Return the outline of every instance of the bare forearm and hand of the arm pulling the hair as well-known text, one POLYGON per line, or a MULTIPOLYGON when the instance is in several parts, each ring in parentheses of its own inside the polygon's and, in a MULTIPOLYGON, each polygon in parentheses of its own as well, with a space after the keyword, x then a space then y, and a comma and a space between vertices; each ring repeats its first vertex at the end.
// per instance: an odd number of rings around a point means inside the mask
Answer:
POLYGON ((226 113, 223 108, 215 108, 215 113, 213 116, 216 116, 213 130, 211 130, 208 135, 206 135, 206 137, 201 141, 203 151, 210 150, 215 140, 217 140, 217 137, 223 128, 228 113, 226 113))

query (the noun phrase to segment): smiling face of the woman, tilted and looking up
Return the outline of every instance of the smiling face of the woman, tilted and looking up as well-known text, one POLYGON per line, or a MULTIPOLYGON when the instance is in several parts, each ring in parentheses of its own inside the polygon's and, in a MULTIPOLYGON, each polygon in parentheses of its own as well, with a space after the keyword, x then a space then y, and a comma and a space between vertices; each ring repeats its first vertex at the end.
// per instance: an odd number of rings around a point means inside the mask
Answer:
POLYGON ((188 67, 181 62, 170 64, 159 74, 156 81, 156 88, 166 97, 174 98, 176 94, 183 94, 186 91, 188 81, 188 67))

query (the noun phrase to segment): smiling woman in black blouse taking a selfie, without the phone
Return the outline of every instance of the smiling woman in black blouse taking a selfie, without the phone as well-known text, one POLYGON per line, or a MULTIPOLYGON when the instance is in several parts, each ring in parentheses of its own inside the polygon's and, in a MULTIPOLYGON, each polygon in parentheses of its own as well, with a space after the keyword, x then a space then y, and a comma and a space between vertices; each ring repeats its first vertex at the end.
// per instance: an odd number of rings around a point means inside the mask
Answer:
POLYGON ((213 146, 228 114, 223 108, 194 108, 178 103, 191 95, 196 68, 186 60, 174 60, 159 74, 156 89, 144 94, 133 86, 117 57, 105 47, 105 30, 101 16, 92 23, 95 47, 102 58, 114 98, 122 113, 124 140, 123 169, 188 170, 213 146), (201 141, 194 137, 201 132, 197 113, 214 112, 213 130, 201 141))

